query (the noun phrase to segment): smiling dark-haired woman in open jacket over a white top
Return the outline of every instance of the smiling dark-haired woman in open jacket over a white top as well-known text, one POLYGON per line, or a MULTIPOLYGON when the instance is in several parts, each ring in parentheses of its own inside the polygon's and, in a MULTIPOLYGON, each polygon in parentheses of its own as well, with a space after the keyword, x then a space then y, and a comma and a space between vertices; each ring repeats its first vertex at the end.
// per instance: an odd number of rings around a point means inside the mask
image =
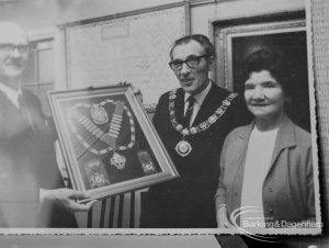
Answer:
POLYGON ((291 66, 274 48, 254 52, 245 65, 245 100, 254 120, 224 143, 215 195, 218 227, 232 227, 230 221, 241 228, 315 221, 311 137, 285 111, 291 66))

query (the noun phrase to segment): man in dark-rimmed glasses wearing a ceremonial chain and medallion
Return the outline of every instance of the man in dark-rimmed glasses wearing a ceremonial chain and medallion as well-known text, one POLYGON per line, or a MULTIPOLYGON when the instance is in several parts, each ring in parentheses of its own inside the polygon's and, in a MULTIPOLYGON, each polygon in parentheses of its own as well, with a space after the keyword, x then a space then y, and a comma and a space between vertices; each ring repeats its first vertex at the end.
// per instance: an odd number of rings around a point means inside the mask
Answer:
POLYGON ((140 227, 216 228, 218 150, 250 116, 239 95, 209 80, 215 47, 206 36, 175 41, 170 58, 181 88, 161 95, 154 124, 181 177, 143 194, 140 227))

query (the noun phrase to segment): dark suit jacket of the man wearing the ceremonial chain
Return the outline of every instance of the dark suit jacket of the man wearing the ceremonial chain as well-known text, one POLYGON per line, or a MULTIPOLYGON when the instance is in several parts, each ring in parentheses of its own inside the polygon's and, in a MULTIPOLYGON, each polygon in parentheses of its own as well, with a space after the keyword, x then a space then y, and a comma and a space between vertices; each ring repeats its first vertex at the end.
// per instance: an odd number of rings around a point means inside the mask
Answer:
MULTIPOLYGON (((192 126, 207 120, 230 92, 212 83, 192 126)), ((154 125, 180 173, 174 179, 154 185, 141 199, 140 227, 155 228, 216 228, 214 195, 219 177, 219 155, 226 135, 251 120, 245 100, 239 95, 208 129, 185 136, 192 151, 181 157, 174 150, 182 139, 169 117, 169 92, 161 95, 154 116, 154 125)), ((174 102, 178 123, 182 123, 184 91, 179 89, 174 102)))

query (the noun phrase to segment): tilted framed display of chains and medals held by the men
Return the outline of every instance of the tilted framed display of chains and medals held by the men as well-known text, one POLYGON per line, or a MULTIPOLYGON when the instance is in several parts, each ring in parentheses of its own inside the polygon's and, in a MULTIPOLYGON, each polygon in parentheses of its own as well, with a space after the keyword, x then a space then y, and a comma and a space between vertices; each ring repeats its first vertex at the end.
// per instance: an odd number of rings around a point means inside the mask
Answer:
POLYGON ((47 97, 73 189, 104 199, 179 177, 132 84, 47 97))

